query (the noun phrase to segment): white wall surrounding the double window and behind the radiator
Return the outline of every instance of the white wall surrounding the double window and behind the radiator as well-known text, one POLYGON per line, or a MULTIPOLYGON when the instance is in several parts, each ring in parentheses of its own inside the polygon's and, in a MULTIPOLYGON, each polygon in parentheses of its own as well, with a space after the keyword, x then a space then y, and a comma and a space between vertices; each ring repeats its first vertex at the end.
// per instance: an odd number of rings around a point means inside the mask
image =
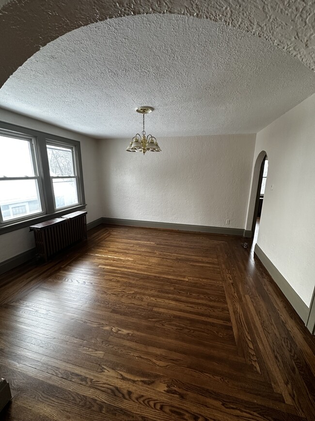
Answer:
MULTIPOLYGON (((90 222, 102 217, 101 200, 99 197, 99 177, 97 173, 98 140, 3 109, 0 109, 0 121, 79 140, 82 155, 85 202, 88 205, 86 207, 88 211, 87 221, 90 222)), ((35 247, 33 236, 34 234, 30 233, 28 228, 0 235, 0 262, 35 247)))

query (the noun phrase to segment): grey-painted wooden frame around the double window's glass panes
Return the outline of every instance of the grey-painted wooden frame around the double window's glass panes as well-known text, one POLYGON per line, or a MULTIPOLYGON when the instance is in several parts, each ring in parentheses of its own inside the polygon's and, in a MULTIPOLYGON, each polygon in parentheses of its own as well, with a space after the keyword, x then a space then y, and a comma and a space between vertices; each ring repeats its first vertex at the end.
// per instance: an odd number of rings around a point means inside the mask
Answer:
MULTIPOLYGON (((0 235, 7 232, 15 231, 24 227, 28 227, 35 223, 43 222, 48 219, 61 217, 65 214, 85 209, 85 196, 82 173, 82 160, 80 142, 78 140, 69 139, 66 137, 53 135, 51 133, 32 130, 26 127, 17 126, 14 124, 0 121, 0 134, 7 137, 20 138, 22 140, 29 140, 32 142, 34 156, 32 155, 34 177, 18 177, 18 179, 33 179, 38 177, 38 192, 40 196, 40 203, 42 212, 27 215, 21 218, 2 221, 0 216, 0 235), (73 151, 74 165, 77 173, 77 194, 79 204, 64 206, 63 208, 55 208, 54 192, 52 187, 52 180, 49 171, 49 162, 47 154, 47 144, 59 144, 59 146, 70 147, 73 151), (35 157, 35 161, 34 161, 35 157)), ((32 151, 31 148, 31 151, 32 151)), ((74 178, 74 177, 73 177, 74 178)), ((5 179, 11 179, 6 177, 5 179)), ((14 177, 16 179, 16 177, 14 177)))

